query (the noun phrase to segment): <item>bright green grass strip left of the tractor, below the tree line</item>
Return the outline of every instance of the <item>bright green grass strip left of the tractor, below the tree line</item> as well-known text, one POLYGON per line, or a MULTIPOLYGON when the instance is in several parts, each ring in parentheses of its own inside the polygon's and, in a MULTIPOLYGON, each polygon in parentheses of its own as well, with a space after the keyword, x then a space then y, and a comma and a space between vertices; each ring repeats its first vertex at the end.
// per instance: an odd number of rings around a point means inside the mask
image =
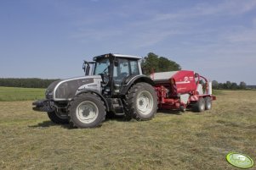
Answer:
POLYGON ((1 87, 0 101, 31 101, 43 99, 45 89, 1 87))

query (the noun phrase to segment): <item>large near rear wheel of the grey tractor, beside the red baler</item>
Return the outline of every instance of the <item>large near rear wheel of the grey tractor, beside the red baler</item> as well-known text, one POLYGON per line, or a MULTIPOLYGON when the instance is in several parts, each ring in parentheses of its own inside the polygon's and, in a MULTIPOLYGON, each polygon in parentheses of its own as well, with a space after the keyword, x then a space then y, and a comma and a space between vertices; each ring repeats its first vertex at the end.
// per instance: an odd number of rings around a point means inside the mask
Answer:
POLYGON ((149 120, 156 114, 156 91, 147 83, 135 84, 128 90, 123 106, 127 118, 149 120))

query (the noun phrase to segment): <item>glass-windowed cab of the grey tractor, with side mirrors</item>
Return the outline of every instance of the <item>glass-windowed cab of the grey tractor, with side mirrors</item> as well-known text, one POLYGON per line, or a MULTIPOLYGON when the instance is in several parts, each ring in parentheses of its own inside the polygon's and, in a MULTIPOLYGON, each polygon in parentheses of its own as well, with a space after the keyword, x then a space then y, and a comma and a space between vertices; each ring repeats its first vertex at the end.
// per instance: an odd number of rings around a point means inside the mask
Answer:
POLYGON ((103 94, 117 96, 129 80, 142 74, 140 59, 137 56, 110 53, 94 57, 94 62, 85 62, 83 69, 86 75, 101 76, 103 94))

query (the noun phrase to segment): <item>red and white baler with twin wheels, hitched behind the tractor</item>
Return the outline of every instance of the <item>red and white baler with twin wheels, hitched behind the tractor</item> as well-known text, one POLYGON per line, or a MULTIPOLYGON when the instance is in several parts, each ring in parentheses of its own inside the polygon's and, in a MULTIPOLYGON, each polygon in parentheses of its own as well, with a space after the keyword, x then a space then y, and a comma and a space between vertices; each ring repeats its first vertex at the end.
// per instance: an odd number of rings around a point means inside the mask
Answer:
POLYGON ((179 70, 151 74, 155 82, 158 108, 180 109, 192 107, 196 112, 209 110, 216 97, 212 83, 193 71, 179 70))

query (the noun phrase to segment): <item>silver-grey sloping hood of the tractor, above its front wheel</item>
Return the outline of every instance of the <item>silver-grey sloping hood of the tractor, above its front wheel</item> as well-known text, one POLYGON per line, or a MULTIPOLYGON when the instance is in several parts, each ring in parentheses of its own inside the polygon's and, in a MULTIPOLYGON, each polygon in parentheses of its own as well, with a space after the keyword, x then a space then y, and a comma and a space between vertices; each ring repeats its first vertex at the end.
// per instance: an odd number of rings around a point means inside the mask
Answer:
POLYGON ((47 99, 54 101, 70 101, 77 94, 78 90, 97 90, 101 93, 100 82, 100 75, 56 80, 48 85, 45 96, 47 99))

